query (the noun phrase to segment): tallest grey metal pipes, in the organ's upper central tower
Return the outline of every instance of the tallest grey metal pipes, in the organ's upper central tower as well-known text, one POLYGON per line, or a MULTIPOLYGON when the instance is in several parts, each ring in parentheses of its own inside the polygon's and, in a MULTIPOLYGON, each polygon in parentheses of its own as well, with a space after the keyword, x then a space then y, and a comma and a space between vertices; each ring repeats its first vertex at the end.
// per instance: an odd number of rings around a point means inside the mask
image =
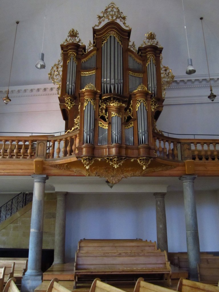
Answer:
POLYGON ((123 93, 122 46, 113 35, 102 46, 102 93, 123 93))

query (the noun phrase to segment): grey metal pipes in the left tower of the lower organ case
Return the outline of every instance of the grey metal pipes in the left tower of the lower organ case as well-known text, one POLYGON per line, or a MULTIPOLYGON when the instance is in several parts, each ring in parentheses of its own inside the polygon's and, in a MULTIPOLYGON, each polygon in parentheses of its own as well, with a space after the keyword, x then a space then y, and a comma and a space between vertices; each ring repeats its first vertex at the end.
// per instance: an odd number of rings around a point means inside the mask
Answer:
POLYGON ((91 101, 88 101, 84 109, 84 144, 93 144, 94 133, 94 107, 91 101))

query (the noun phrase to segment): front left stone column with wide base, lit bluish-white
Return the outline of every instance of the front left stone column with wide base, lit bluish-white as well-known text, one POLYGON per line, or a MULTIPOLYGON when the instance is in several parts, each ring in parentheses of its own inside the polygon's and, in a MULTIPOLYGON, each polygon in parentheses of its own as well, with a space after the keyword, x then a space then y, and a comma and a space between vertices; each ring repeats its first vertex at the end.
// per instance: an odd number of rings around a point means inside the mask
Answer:
POLYGON ((47 175, 32 175, 34 192, 30 225, 28 269, 21 282, 22 292, 34 292, 42 283, 41 256, 43 246, 44 193, 47 175))

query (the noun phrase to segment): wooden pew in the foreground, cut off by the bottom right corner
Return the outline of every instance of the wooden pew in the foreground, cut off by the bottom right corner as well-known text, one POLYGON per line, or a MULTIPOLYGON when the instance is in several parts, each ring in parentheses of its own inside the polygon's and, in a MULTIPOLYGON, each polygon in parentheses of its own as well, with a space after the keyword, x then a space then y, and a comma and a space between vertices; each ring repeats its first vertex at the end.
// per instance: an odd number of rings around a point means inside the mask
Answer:
POLYGON ((179 291, 179 292, 219 292, 219 287, 180 278, 176 291, 179 291))

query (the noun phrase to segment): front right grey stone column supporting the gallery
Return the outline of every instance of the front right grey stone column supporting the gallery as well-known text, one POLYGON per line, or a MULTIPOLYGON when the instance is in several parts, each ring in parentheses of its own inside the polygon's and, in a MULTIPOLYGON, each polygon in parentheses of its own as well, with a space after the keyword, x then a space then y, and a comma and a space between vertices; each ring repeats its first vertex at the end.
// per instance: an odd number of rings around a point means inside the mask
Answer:
POLYGON ((183 175, 183 197, 185 208, 186 242, 189 264, 189 279, 199 281, 197 263, 200 263, 199 232, 194 194, 195 175, 183 175))

